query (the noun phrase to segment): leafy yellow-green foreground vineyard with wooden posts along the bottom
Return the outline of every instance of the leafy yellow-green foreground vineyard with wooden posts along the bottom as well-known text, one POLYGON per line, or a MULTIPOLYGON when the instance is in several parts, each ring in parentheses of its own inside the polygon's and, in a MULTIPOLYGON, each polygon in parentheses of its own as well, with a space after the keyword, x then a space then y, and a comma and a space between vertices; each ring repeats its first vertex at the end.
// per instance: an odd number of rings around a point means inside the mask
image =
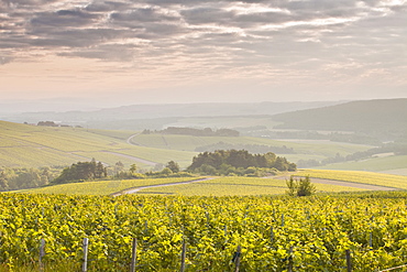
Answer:
POLYGON ((0 263, 36 268, 44 239, 45 270, 80 271, 88 238, 88 271, 129 271, 136 238, 136 271, 179 271, 183 240, 186 271, 233 271, 239 246, 240 271, 345 271, 346 250, 353 271, 378 271, 407 262, 406 197, 0 194, 0 263))

